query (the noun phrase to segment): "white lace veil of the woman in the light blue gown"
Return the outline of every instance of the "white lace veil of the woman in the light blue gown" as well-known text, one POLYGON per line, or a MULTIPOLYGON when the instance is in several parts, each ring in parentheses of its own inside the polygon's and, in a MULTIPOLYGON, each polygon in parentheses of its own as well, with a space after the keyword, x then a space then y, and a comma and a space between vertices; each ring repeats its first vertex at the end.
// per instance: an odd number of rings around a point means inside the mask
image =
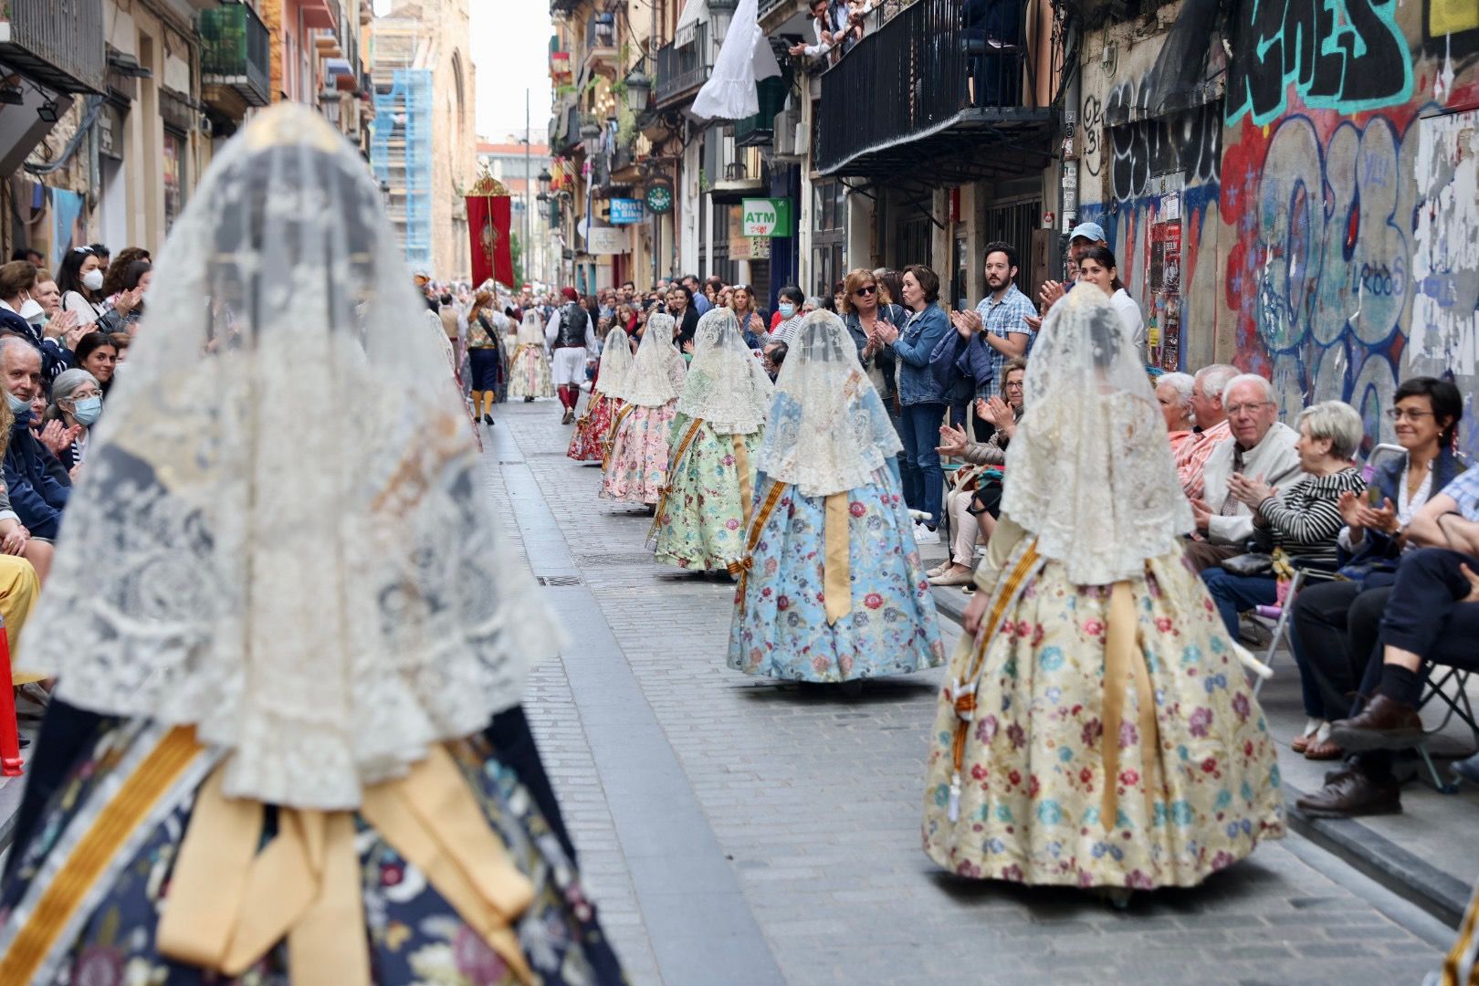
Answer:
POLYGON ((757 469, 803 497, 828 497, 874 482, 902 448, 847 327, 831 312, 808 315, 775 381, 757 469))

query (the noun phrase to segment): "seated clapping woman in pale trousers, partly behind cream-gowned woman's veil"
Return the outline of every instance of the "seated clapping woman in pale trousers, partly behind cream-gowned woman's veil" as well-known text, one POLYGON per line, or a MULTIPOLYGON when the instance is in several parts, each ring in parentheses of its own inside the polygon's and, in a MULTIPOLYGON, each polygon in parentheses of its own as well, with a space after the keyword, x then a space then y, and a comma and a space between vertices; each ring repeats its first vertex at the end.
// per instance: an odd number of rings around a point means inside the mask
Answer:
POLYGON ((995 426, 985 442, 972 442, 964 429, 942 424, 939 429, 941 455, 966 460, 973 469, 957 473, 952 488, 945 494, 945 509, 950 511, 951 538, 950 557, 927 572, 930 585, 970 585, 975 579, 976 544, 985 544, 997 528, 1001 514, 1001 467, 1007 461, 1007 443, 1016 433, 1022 418, 1022 381, 1026 378, 1026 359, 1015 356, 1006 362, 1006 377, 1001 398, 976 401, 976 414, 995 426))

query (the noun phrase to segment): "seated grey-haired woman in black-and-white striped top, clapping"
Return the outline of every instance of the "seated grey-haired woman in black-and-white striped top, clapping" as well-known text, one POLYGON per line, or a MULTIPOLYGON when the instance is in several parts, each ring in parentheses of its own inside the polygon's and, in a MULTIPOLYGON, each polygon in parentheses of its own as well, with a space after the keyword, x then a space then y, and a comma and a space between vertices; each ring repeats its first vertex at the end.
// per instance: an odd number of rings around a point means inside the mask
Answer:
MULTIPOLYGON (((1233 473, 1228 480, 1231 497, 1253 510, 1254 548, 1259 553, 1282 551, 1315 565, 1336 566, 1340 535, 1340 497, 1365 489, 1365 480, 1350 463, 1361 445, 1364 427, 1356 409, 1343 401, 1322 401, 1299 415, 1300 476, 1287 489, 1272 489, 1257 476, 1233 473)), ((1217 603, 1228 633, 1238 636, 1238 613, 1278 600, 1279 584, 1273 565, 1257 556, 1235 556, 1202 572, 1207 591, 1217 603), (1250 560, 1259 574, 1238 574, 1241 560, 1250 560)))

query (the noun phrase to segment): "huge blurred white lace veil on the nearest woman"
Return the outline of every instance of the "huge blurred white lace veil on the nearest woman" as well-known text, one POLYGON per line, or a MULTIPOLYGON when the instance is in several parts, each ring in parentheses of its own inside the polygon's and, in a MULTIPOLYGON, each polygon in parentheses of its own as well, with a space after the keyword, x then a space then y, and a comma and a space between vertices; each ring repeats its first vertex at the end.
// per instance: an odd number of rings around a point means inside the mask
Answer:
POLYGON ((317 114, 274 106, 216 154, 25 627, 62 699, 229 749, 232 797, 355 807, 552 649, 398 254, 317 114))

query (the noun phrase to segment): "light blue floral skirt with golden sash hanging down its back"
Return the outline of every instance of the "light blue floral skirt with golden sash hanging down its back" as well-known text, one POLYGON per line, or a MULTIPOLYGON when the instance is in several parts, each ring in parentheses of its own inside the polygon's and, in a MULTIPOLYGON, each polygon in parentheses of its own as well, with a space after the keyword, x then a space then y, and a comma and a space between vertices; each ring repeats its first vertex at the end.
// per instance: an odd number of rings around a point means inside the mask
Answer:
MULTIPOLYGON (((757 480, 757 503, 768 482, 757 480)), ((759 510, 759 506, 757 506, 759 510)), ((847 492, 850 611, 827 622, 825 500, 794 488, 756 543, 729 628, 729 667, 772 679, 846 681, 910 674, 945 661, 898 473, 847 492)))

